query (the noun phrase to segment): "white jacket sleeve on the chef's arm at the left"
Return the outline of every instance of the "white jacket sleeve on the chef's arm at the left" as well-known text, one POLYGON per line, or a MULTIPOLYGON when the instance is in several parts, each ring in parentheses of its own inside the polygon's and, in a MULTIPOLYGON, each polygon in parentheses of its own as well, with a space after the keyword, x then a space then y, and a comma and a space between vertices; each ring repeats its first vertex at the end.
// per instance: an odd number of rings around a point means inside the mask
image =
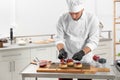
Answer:
POLYGON ((63 23, 62 23, 62 17, 60 17, 60 19, 58 20, 58 23, 56 25, 57 28, 57 35, 55 37, 55 44, 65 44, 64 43, 64 28, 63 28, 63 23))

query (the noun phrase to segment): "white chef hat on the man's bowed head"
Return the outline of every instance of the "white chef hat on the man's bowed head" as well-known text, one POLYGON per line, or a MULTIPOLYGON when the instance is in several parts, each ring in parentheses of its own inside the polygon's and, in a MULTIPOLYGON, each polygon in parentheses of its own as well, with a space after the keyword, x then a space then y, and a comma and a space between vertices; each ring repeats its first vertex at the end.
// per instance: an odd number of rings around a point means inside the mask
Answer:
POLYGON ((69 12, 79 12, 84 8, 84 0, 66 0, 69 12))

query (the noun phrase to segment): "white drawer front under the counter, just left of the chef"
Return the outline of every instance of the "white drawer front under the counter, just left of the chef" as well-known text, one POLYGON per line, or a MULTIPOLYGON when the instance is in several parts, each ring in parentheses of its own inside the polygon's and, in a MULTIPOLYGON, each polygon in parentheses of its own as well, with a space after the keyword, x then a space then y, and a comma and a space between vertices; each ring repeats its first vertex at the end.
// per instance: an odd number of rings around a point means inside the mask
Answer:
POLYGON ((41 48, 32 48, 31 49, 31 60, 52 60, 51 56, 51 47, 41 47, 41 48))

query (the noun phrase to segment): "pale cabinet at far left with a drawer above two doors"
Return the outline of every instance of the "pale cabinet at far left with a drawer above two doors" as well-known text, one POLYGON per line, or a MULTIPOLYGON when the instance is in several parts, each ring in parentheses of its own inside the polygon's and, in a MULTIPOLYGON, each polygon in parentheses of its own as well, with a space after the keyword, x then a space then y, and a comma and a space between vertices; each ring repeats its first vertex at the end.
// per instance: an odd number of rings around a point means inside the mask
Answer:
POLYGON ((29 63, 29 49, 0 51, 0 80, 21 80, 19 73, 29 63))

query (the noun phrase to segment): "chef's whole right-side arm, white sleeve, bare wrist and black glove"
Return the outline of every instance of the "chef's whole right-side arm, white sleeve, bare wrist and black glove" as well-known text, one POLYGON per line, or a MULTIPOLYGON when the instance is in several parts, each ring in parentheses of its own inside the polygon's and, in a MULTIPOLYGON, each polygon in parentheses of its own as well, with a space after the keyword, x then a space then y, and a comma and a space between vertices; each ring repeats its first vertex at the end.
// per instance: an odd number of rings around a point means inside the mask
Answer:
POLYGON ((94 17, 91 21, 91 27, 89 30, 90 32, 85 47, 79 52, 75 53, 72 59, 80 61, 84 55, 97 48, 99 43, 99 23, 98 20, 94 17))

